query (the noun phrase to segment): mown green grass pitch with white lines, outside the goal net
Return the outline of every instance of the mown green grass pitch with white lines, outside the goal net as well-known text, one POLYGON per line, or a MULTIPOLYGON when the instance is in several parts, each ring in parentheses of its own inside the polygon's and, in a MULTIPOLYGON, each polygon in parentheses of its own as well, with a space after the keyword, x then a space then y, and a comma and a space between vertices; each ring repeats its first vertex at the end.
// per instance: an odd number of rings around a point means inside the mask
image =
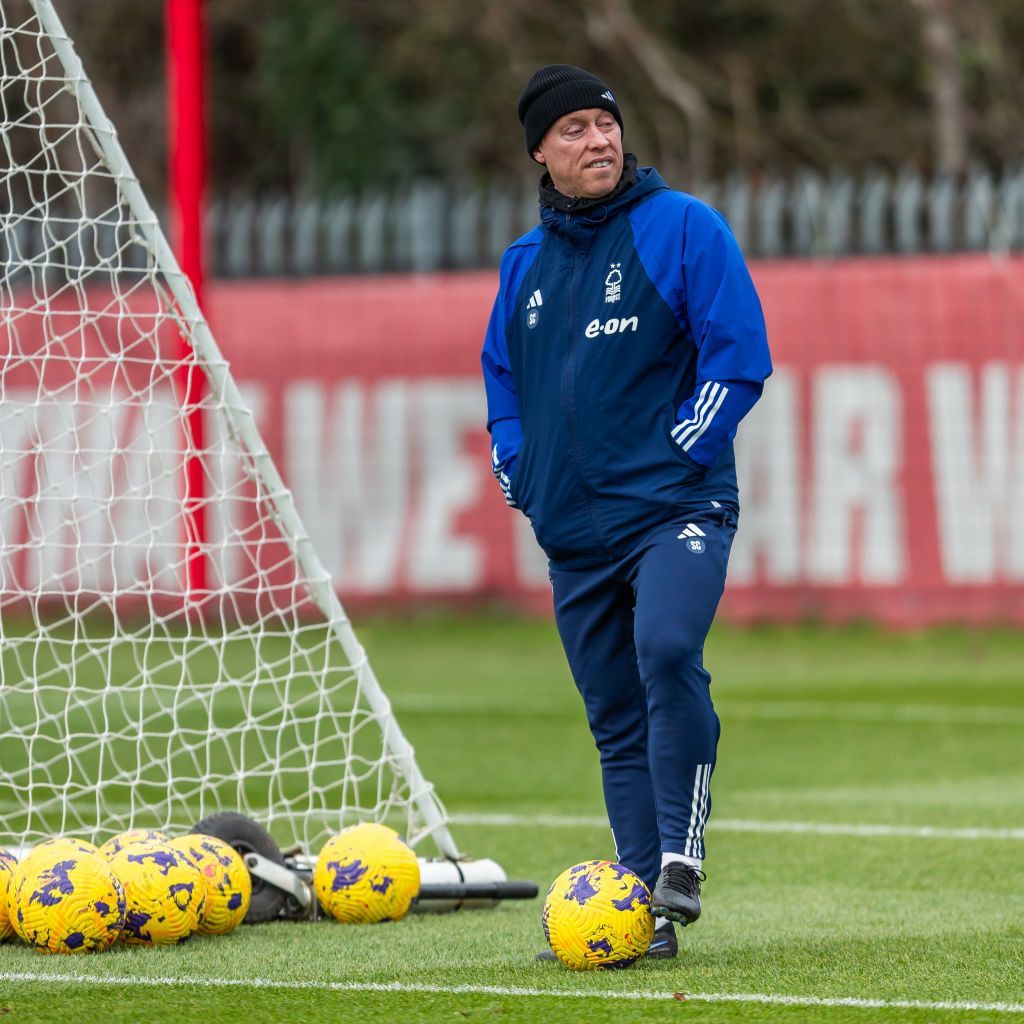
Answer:
MULTIPOLYGON (((542 891, 568 864, 612 854, 550 624, 357 628, 467 852, 542 891)), ((677 962, 589 974, 536 964, 538 900, 88 957, 6 944, 0 1017, 1024 1020, 1024 637, 718 627, 707 662, 722 743, 705 915, 677 962)))

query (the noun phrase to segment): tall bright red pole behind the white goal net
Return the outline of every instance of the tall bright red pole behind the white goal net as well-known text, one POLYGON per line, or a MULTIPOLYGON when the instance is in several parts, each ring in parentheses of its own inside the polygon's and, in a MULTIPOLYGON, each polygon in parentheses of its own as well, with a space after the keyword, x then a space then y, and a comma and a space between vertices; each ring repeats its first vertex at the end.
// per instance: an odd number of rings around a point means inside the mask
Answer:
MULTIPOLYGON (((203 305, 203 194, 206 187, 203 0, 166 0, 167 141, 171 245, 196 299, 203 305)), ((191 345, 179 340, 178 398, 184 426, 184 587, 200 599, 207 585, 205 483, 203 476, 204 379, 191 345)))

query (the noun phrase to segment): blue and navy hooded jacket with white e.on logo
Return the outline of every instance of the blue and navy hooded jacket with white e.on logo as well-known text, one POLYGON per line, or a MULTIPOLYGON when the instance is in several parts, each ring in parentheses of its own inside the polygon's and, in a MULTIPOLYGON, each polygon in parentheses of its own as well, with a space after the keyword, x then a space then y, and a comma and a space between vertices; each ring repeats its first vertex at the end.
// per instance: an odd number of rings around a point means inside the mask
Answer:
POLYGON ((711 502, 771 359, 725 220, 653 168, 505 252, 483 344, 492 469, 552 564, 621 557, 711 502))

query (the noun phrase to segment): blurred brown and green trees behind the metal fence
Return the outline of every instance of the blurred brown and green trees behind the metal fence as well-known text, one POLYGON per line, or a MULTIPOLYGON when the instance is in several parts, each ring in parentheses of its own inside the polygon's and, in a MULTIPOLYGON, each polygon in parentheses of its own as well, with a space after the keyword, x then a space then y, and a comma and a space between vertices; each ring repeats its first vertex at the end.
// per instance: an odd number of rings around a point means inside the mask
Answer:
MULTIPOLYGON (((161 7, 60 3, 153 195, 161 7)), ((221 194, 521 179, 535 168, 515 101, 549 62, 600 74, 627 147, 683 187, 1024 159, 1020 0, 207 0, 206 20, 221 194)))

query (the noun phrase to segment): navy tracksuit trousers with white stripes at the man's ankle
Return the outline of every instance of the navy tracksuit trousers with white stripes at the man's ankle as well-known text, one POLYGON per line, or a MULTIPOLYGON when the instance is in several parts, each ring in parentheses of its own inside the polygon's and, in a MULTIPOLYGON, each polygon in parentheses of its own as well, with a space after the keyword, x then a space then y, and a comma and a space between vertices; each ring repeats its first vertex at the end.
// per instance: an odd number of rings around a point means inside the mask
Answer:
POLYGON ((551 570, 555 622, 601 755, 617 860, 653 887, 662 853, 702 858, 719 721, 703 644, 735 514, 709 506, 618 561, 551 570))

